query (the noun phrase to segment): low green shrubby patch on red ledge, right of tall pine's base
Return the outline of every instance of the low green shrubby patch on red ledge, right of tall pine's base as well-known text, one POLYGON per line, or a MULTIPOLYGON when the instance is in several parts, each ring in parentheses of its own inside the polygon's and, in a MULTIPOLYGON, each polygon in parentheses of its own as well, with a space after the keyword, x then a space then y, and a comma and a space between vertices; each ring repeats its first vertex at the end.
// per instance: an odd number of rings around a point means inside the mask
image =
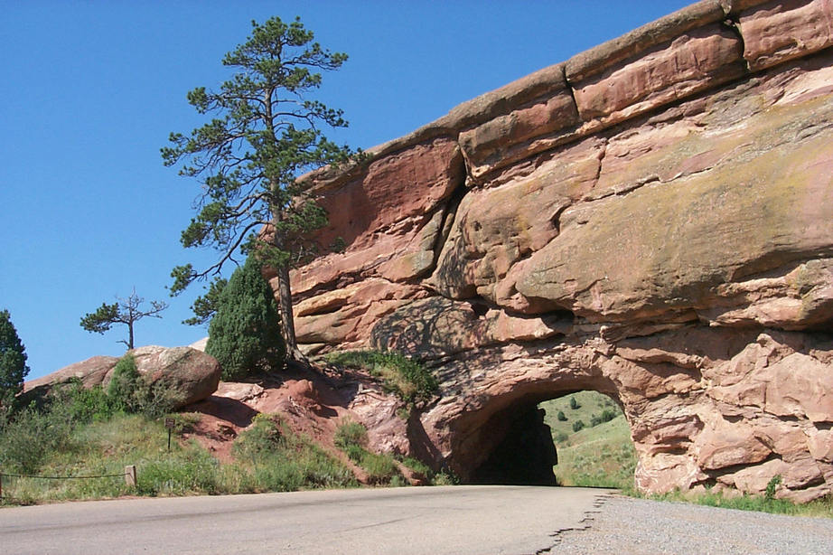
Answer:
POLYGON ((344 351, 330 353, 326 360, 370 373, 381 380, 383 390, 408 404, 430 400, 439 388, 434 374, 421 362, 395 351, 344 351))

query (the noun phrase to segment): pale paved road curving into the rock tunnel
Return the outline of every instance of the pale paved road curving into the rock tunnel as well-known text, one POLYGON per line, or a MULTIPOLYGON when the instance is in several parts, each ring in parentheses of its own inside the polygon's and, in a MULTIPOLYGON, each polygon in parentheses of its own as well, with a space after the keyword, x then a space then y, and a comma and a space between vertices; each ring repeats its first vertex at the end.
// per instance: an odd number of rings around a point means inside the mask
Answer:
POLYGON ((0 551, 536 553, 606 490, 453 486, 129 499, 0 509, 0 551))

